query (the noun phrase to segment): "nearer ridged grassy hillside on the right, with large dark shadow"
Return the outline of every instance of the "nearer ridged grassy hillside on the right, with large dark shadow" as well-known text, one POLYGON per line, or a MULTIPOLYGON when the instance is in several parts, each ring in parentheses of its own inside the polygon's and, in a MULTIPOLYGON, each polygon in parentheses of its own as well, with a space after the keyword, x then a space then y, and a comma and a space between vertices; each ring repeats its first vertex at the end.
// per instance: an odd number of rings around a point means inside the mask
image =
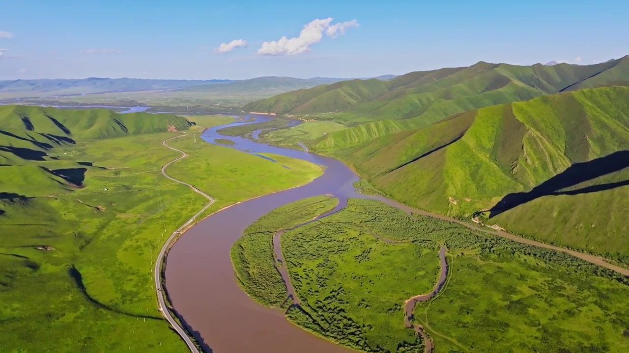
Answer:
POLYGON ((629 260, 629 87, 486 107, 339 155, 407 204, 486 210, 488 224, 629 260))

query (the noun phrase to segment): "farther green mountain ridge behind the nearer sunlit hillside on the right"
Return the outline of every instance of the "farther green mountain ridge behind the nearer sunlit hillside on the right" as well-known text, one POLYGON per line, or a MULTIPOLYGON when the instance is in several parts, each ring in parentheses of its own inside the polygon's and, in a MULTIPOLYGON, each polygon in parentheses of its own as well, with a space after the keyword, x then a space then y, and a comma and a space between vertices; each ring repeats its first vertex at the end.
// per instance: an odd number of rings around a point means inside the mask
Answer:
POLYGON ((583 66, 479 62, 470 67, 411 72, 391 80, 349 80, 296 90, 252 102, 243 110, 305 115, 350 126, 326 134, 311 146, 333 152, 472 109, 627 84, 629 56, 583 66))

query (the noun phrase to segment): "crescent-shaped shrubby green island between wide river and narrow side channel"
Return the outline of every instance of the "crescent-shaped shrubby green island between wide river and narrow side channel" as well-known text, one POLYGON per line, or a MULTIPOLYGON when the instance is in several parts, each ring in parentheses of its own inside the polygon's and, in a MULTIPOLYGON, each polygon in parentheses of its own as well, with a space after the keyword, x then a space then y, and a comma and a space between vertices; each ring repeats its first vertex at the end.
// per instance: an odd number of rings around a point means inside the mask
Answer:
POLYGON ((248 296, 267 307, 281 305, 286 299, 286 285, 276 269, 274 234, 324 214, 337 202, 325 196, 304 198, 272 210, 245 229, 231 247, 231 263, 238 284, 248 296))

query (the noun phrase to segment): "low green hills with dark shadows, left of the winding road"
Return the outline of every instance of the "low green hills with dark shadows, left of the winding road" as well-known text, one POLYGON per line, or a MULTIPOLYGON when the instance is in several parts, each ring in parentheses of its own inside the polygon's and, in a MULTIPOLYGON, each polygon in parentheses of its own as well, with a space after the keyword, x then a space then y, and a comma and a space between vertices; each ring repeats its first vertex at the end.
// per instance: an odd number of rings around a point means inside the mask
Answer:
POLYGON ((187 119, 172 114, 0 106, 0 165, 59 160, 54 155, 55 147, 71 146, 86 139, 182 131, 191 125, 187 119))

